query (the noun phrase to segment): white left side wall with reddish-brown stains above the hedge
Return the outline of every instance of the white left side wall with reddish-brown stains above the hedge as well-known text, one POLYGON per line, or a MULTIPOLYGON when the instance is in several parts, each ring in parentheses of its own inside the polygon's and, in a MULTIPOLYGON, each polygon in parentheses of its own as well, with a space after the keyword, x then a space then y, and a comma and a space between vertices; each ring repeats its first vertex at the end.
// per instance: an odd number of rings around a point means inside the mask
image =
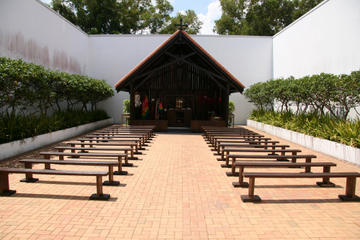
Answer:
POLYGON ((87 34, 35 0, 0 0, 0 56, 86 74, 87 34))

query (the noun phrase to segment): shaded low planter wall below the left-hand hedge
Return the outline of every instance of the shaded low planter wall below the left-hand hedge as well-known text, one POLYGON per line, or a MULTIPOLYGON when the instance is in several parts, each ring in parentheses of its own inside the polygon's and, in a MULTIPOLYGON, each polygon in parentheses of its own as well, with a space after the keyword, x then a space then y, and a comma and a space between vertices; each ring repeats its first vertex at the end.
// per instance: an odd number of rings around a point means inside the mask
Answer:
POLYGON ((113 123, 112 118, 0 144, 0 161, 113 123))

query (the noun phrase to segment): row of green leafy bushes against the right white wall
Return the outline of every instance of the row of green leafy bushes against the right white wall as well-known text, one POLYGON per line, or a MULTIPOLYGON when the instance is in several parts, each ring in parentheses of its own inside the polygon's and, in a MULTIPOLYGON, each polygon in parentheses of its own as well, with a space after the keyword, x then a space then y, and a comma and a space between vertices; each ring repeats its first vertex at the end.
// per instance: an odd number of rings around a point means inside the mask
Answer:
POLYGON ((295 104, 296 114, 308 112, 311 107, 317 114, 347 119, 350 110, 360 105, 360 71, 270 80, 250 86, 244 95, 258 109, 273 110, 277 101, 281 112, 290 111, 295 104))

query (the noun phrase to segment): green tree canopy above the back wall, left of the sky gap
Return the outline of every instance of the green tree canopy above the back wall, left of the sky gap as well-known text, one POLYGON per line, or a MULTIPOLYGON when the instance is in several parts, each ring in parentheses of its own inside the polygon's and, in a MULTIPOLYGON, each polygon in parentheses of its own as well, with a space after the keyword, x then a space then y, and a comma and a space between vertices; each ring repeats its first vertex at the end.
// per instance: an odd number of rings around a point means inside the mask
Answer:
POLYGON ((51 6, 90 34, 173 33, 180 18, 197 34, 202 24, 193 10, 171 17, 168 0, 52 0, 51 6))

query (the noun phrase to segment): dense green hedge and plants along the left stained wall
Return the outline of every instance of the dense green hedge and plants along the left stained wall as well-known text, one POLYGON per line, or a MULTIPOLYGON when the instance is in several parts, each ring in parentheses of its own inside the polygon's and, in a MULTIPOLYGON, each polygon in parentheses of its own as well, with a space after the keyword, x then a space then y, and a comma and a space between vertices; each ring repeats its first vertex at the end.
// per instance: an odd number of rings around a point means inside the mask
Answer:
POLYGON ((108 118, 96 104, 114 95, 104 80, 5 57, 0 86, 0 143, 108 118))

